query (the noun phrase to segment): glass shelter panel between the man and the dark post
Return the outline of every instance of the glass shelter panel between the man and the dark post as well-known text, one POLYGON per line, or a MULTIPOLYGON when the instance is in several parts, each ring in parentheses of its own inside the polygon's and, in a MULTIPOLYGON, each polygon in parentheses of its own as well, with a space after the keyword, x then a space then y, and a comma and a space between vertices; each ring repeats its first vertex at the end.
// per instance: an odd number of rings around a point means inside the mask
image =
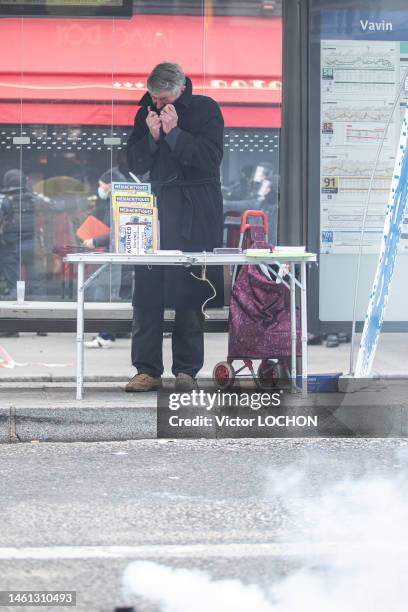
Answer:
POLYGON ((234 219, 246 209, 264 210, 269 239, 277 239, 281 7, 271 3, 263 12, 256 4, 247 8, 245 15, 217 18, 208 1, 204 15, 203 84, 207 95, 221 104, 226 126, 222 187, 229 246, 237 244, 234 219))

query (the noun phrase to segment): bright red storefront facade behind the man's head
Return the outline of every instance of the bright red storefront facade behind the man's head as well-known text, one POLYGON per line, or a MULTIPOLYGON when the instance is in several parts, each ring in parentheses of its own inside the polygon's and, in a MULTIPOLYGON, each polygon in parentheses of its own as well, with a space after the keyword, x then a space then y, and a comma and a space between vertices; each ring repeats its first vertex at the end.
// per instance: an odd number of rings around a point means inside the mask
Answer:
POLYGON ((227 127, 280 127, 279 18, 4 19, 0 28, 0 123, 130 125, 149 69, 168 59, 221 104, 227 127))

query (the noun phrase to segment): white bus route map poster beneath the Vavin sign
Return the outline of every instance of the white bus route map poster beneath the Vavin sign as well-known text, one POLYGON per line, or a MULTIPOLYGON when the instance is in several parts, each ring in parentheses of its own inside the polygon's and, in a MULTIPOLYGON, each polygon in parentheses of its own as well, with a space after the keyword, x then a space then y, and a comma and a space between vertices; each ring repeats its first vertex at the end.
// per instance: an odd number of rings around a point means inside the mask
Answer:
MULTIPOLYGON (((321 40, 321 253, 358 253, 371 175, 388 124, 363 237, 363 253, 378 253, 407 99, 408 28, 405 41, 388 41, 395 13, 375 21, 357 16, 357 32, 367 38, 321 40)), ((326 22, 327 17, 322 36, 326 22)), ((408 251, 408 225, 399 249, 408 251)))

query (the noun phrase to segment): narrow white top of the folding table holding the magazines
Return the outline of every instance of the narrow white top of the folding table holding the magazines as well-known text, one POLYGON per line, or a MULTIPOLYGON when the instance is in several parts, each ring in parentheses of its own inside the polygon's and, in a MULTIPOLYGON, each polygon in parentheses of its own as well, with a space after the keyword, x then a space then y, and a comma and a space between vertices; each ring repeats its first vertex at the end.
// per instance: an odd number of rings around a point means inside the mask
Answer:
POLYGON ((282 253, 271 253, 265 256, 251 256, 244 253, 183 253, 182 255, 150 254, 150 255, 123 255, 122 253, 71 253, 64 258, 67 263, 87 264, 122 264, 122 265, 242 265, 242 264, 273 264, 279 263, 302 263, 316 261, 315 253, 301 253, 288 251, 282 253))

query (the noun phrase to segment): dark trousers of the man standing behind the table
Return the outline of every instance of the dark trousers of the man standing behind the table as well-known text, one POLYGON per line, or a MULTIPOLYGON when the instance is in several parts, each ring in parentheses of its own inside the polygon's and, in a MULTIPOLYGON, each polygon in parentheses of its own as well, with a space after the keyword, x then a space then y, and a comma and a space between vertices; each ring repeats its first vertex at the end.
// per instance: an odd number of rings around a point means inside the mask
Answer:
MULTIPOLYGON (((164 309, 133 308, 132 363, 139 374, 163 374, 164 309)), ((176 309, 172 334, 174 376, 195 377, 204 363, 204 317, 201 309, 176 309)))

